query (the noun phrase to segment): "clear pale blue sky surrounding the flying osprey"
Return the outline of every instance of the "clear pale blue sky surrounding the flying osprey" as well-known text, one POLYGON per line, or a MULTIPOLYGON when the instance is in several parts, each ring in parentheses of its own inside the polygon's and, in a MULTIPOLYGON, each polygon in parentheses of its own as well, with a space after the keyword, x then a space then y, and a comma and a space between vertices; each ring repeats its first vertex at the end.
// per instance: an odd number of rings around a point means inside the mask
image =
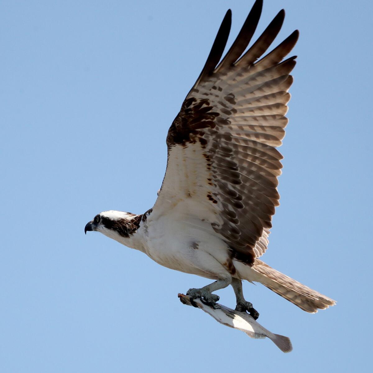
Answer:
POLYGON ((264 1, 259 30, 283 7, 276 41, 300 40, 263 259, 338 301, 308 314, 244 284, 291 354, 179 302, 206 279, 84 235, 100 211, 153 206, 167 129, 228 7, 230 44, 252 3, 2 2, 1 372, 369 370, 371 1, 264 1))

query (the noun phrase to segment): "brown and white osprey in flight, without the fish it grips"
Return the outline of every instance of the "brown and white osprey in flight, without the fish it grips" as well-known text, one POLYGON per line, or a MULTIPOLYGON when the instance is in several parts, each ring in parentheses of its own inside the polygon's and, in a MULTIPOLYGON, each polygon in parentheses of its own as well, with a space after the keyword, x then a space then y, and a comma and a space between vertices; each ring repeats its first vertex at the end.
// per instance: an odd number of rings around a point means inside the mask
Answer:
POLYGON ((335 301, 261 261, 279 205, 281 145, 296 56, 283 58, 298 39, 294 31, 262 57, 280 31, 281 10, 244 53, 256 30, 262 0, 220 61, 231 28, 226 13, 200 76, 167 134, 167 167, 153 208, 144 214, 104 211, 87 223, 140 250, 170 269, 214 280, 189 289, 214 304, 214 291, 232 285, 237 311, 258 312, 242 294, 242 280, 260 282, 315 313, 335 301), (220 63, 219 63, 220 61, 220 63))

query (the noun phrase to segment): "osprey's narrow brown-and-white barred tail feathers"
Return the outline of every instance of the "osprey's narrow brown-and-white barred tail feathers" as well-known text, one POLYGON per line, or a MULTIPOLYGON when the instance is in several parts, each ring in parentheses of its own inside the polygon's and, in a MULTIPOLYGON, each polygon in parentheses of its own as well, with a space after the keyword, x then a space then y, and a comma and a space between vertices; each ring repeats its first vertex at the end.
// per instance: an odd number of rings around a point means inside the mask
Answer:
POLYGON ((255 259, 251 269, 256 272, 255 281, 261 282, 304 311, 316 313, 318 309, 323 310, 336 304, 336 301, 276 271, 259 259, 255 259))

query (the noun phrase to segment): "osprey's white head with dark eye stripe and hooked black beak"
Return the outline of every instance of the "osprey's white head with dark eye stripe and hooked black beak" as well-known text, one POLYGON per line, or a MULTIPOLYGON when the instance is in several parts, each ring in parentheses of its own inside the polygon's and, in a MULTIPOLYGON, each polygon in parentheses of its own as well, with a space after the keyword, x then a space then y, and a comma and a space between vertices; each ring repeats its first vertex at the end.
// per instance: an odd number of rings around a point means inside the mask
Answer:
POLYGON ((122 242, 134 232, 140 223, 141 215, 124 211, 103 211, 85 225, 84 233, 88 231, 101 232, 105 236, 122 242))

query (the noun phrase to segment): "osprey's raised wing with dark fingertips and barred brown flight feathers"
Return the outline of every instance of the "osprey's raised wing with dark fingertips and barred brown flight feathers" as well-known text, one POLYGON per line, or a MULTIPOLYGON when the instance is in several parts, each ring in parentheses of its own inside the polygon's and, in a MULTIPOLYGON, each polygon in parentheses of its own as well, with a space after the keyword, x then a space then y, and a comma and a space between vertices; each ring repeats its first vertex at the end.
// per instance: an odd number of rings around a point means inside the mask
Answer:
POLYGON ((298 39, 294 31, 258 60, 280 31, 281 10, 246 49, 260 18, 257 0, 219 63, 231 27, 225 15, 206 64, 167 134, 167 169, 153 211, 183 201, 185 214, 207 220, 235 256, 253 263, 267 248, 275 206, 285 114, 298 39), (241 58, 240 58, 241 57, 241 58), (218 64, 219 63, 219 64, 218 64), (186 201, 186 203, 185 203, 186 201))

